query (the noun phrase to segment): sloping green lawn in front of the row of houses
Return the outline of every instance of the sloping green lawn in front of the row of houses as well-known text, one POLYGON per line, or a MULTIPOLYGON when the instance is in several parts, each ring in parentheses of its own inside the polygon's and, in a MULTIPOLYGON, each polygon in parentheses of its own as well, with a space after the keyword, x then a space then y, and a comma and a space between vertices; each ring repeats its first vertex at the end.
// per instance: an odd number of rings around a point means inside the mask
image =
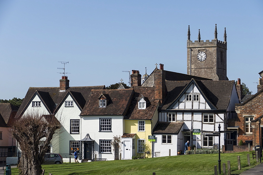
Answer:
MULTIPOLYGON (((221 167, 230 160, 231 174, 240 174, 257 165, 252 159, 247 165, 249 152, 221 154, 221 167), (237 170, 237 156, 240 156, 241 170, 237 170)), ((156 157, 137 160, 115 160, 88 163, 63 163, 60 165, 43 165, 45 173, 57 174, 214 174, 214 166, 218 165, 218 154, 180 155, 156 157)), ((221 170, 223 172, 223 170, 221 170)), ((12 169, 12 174, 18 174, 18 169, 12 169)))

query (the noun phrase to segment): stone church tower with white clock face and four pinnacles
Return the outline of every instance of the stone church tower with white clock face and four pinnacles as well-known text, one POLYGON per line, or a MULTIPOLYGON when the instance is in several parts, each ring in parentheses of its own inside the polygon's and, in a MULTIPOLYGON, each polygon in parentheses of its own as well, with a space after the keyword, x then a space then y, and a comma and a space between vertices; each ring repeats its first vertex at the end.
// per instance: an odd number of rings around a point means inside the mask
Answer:
POLYGON ((224 41, 217 39, 215 25, 215 39, 201 40, 200 29, 198 40, 190 41, 190 26, 187 34, 187 74, 209 78, 213 80, 228 80, 226 76, 226 28, 224 41))

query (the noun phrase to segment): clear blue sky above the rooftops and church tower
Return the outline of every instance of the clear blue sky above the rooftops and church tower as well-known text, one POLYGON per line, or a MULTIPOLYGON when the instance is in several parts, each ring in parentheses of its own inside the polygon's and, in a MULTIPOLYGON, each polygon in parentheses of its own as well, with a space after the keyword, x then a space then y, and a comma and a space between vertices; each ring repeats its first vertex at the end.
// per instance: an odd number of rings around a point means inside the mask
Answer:
MULTIPOLYGON (((0 99, 23 98, 29 87, 115 84, 123 70, 155 64, 185 73, 186 40, 227 32, 227 76, 253 94, 263 70, 263 1, 0 1, 0 99)), ((158 66, 159 68, 159 66, 158 66)))

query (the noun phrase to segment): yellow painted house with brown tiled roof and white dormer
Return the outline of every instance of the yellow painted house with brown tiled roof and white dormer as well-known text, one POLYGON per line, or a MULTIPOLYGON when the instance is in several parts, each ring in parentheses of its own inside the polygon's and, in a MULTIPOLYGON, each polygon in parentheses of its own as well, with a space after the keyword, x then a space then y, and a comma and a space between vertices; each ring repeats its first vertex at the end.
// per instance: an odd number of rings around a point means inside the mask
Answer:
POLYGON ((158 121, 159 100, 154 99, 153 87, 134 87, 134 95, 127 116, 124 117, 125 133, 122 136, 122 159, 141 155, 152 157, 152 135, 158 121))

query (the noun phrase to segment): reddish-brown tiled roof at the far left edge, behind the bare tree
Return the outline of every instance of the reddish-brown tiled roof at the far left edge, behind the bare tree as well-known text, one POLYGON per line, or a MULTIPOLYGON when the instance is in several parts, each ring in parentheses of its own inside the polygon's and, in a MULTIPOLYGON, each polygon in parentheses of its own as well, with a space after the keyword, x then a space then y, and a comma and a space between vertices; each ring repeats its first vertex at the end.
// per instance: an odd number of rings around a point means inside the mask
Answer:
POLYGON ((0 103, 0 127, 7 127, 9 119, 13 118, 18 110, 10 103, 0 103))

